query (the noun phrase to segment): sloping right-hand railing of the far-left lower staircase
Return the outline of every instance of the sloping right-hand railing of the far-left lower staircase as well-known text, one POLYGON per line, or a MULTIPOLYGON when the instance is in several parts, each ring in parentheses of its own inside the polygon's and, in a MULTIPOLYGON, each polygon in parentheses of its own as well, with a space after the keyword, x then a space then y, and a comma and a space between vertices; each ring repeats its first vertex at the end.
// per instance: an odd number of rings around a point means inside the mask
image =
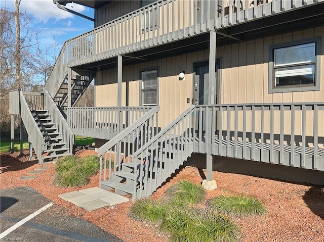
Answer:
POLYGON ((57 125, 58 131, 63 137, 63 142, 66 142, 64 147, 68 148, 69 153, 72 154, 75 142, 74 133, 47 90, 44 91, 44 106, 51 114, 53 122, 57 125))

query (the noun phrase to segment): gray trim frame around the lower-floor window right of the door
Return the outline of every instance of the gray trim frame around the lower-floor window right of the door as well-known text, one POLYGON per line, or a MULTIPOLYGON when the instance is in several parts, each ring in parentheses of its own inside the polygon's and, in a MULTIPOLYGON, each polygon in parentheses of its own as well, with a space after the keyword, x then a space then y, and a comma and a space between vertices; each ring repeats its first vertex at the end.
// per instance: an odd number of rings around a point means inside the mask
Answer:
POLYGON ((321 56, 321 37, 303 39, 288 43, 274 44, 269 47, 269 80, 268 93, 293 92, 293 91, 315 91, 320 89, 320 56, 321 56), (274 50, 282 47, 301 45, 315 42, 315 82, 314 84, 275 86, 274 77, 274 50))

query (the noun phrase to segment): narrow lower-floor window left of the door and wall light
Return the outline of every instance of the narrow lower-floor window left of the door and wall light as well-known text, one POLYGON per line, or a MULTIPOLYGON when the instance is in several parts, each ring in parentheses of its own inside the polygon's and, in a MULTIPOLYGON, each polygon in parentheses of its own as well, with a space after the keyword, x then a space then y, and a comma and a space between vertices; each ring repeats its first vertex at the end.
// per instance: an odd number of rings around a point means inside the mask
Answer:
POLYGON ((142 105, 157 105, 157 69, 141 72, 142 105))

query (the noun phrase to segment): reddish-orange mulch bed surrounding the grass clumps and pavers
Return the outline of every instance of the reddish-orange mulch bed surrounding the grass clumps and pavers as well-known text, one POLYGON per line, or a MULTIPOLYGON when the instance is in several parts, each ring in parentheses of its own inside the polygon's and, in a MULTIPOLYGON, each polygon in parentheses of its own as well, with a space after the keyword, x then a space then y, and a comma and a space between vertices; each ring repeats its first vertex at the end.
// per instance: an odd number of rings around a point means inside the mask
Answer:
MULTIPOLYGON (((67 209, 73 216, 86 219, 105 231, 127 242, 168 241, 168 236, 160 234, 153 225, 131 220, 127 216, 132 202, 87 212, 82 208, 65 202, 57 196, 61 193, 99 185, 99 175, 92 177, 90 183, 81 187, 59 188, 52 184, 55 176, 54 164, 33 180, 21 180, 28 171, 34 170, 38 161, 27 161, 25 156, 17 158, 19 153, 1 154, 1 189, 29 186, 57 205, 67 209)), ((97 154, 90 150, 80 150, 78 156, 97 154)), ((199 184, 202 178, 194 167, 185 167, 164 186, 153 193, 153 199, 163 197, 166 188, 187 179, 199 184)), ((241 227, 239 241, 324 241, 324 189, 304 184, 253 177, 241 174, 213 172, 218 188, 207 192, 207 199, 225 194, 243 194, 257 197, 266 206, 265 216, 236 219, 241 227)))

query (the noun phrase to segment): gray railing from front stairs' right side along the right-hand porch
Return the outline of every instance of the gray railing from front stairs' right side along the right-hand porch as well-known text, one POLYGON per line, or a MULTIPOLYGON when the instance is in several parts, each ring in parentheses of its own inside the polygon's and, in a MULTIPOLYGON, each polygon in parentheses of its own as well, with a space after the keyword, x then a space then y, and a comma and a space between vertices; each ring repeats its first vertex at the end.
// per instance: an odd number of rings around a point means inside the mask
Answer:
POLYGON ((324 103, 192 106, 134 153, 133 200, 150 196, 192 152, 324 171, 319 117, 324 103))

